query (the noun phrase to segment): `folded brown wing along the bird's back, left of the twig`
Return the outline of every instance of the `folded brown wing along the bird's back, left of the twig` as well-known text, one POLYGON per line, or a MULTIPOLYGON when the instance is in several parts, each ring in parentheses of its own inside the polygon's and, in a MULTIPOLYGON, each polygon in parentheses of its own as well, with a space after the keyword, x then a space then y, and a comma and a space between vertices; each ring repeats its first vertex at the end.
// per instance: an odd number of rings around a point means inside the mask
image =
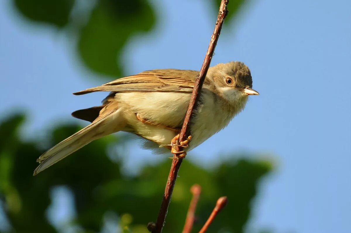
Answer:
POLYGON ((162 69, 148 70, 136 75, 119 78, 102 84, 98 87, 88 88, 74 95, 91 92, 192 92, 198 71, 162 69))

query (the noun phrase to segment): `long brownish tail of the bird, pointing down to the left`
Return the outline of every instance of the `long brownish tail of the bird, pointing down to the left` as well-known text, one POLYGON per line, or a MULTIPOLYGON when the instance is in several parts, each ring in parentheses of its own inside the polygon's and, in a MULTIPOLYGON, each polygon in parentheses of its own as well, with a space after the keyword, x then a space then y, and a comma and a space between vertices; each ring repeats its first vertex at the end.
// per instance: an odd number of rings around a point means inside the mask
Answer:
POLYGON ((91 141, 120 131, 122 127, 121 121, 123 120, 120 112, 120 109, 105 110, 104 114, 95 119, 90 125, 82 128, 77 133, 46 151, 37 159, 40 165, 34 170, 33 176, 79 150, 91 141))

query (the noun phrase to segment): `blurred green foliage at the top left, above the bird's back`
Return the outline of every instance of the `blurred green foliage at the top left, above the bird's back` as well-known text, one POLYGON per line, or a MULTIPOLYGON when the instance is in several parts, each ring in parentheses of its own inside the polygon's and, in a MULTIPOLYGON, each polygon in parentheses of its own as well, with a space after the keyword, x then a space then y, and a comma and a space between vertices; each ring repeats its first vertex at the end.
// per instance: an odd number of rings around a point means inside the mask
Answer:
POLYGON ((90 70, 105 75, 100 77, 121 77, 122 49, 131 36, 150 31, 156 21, 148 0, 99 0, 91 12, 82 13, 90 15, 86 22, 81 17, 70 17, 74 0, 13 1, 27 19, 59 28, 71 26, 69 29, 74 33, 68 35, 78 35, 77 51, 82 62, 90 70))

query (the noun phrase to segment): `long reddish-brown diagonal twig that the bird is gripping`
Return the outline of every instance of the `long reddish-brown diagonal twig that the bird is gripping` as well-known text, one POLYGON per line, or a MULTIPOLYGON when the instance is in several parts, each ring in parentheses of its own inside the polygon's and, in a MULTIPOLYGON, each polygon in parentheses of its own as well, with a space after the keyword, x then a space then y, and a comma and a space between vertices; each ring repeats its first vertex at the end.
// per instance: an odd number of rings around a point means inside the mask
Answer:
MULTIPOLYGON (((193 109, 197 106, 197 102, 199 99, 199 93, 201 91, 202 85, 204 83, 208 67, 210 67, 211 59, 213 56, 214 48, 216 47, 220 30, 222 28, 224 18, 226 17, 228 11, 227 11, 227 4, 229 0, 222 0, 220 7, 219 7, 219 12, 218 12, 218 17, 216 21, 216 26, 214 26, 214 31, 210 40, 210 45, 208 45, 208 49, 206 52, 206 56, 204 59, 204 62, 201 66, 201 70, 199 73, 199 77, 196 79, 194 83, 194 88, 193 92, 191 95, 190 103, 188 110, 185 115, 183 127, 181 128, 180 135, 179 135, 179 141, 184 141, 186 138, 186 134, 188 131, 188 124, 190 121, 190 118, 193 113, 193 109)), ((177 147, 177 151, 182 151, 182 147, 177 147)), ((181 165, 181 162, 183 161, 183 158, 179 158, 176 154, 173 155, 173 160, 172 160, 172 165, 171 165, 171 170, 170 174, 168 175, 168 180, 166 183, 166 188, 165 188, 165 193, 161 202, 160 210, 158 213, 157 221, 156 221, 156 227, 152 230, 152 233, 161 233, 162 228, 166 219, 167 211, 168 211, 168 206, 171 201, 171 196, 174 188, 174 183, 176 182, 176 178, 178 175, 178 171, 181 165)))

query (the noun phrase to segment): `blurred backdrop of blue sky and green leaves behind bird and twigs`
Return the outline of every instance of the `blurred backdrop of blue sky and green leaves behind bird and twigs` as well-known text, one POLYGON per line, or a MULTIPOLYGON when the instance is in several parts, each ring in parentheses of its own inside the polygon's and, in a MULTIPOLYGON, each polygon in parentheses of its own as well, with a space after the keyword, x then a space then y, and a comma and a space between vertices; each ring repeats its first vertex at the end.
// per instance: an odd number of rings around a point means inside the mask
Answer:
MULTIPOLYGON (((244 112, 188 153, 164 232, 351 232, 351 2, 230 0, 212 64, 251 69, 244 112)), ((85 125, 71 93, 154 68, 199 70, 216 0, 3 0, 0 232, 147 232, 171 160, 129 134, 95 141, 32 177, 46 149, 85 125)))

